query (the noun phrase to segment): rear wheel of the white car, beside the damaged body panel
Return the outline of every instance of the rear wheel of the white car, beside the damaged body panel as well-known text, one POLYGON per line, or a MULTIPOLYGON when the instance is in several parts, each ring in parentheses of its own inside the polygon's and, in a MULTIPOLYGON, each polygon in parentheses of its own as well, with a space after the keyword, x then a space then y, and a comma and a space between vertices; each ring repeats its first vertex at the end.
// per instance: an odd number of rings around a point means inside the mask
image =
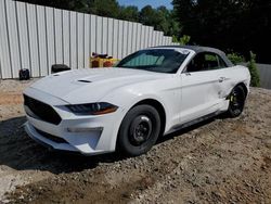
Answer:
POLYGON ((231 94, 229 95, 230 104, 227 112, 229 117, 238 117, 245 106, 246 93, 242 86, 236 86, 233 88, 231 94))

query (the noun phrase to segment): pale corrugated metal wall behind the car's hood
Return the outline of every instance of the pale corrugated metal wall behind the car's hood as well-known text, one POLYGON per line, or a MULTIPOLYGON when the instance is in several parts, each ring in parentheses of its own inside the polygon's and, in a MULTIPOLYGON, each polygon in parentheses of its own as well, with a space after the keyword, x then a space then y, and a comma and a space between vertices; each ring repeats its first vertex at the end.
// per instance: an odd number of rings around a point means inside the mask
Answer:
POLYGON ((143 48, 173 44, 153 27, 0 0, 0 78, 17 78, 21 68, 46 76, 52 64, 89 67, 92 52, 117 59, 143 48))

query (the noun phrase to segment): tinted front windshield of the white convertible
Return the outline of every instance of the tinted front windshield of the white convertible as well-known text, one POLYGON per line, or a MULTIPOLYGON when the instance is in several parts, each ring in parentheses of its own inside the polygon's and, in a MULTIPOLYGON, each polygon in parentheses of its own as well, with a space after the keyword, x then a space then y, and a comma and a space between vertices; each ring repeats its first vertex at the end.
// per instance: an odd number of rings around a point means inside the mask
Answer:
POLYGON ((177 73, 186 56, 188 54, 170 49, 142 50, 125 58, 117 66, 173 74, 177 73))

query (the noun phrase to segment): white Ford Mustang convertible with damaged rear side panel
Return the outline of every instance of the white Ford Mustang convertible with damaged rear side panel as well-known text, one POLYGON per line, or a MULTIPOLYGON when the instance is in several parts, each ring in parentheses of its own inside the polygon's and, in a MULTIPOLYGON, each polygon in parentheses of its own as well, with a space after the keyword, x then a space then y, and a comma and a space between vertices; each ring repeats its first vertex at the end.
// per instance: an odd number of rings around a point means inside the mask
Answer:
POLYGON ((86 155, 120 150, 136 156, 159 136, 227 113, 238 116, 250 82, 246 67, 204 47, 138 51, 114 68, 42 78, 24 92, 29 137, 86 155))

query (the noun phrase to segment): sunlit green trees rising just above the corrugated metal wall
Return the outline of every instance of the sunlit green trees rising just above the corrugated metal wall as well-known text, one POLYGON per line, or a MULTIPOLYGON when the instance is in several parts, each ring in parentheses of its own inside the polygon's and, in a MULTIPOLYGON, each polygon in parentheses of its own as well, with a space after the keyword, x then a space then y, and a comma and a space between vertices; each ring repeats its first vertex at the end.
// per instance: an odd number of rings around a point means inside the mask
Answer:
MULTIPOLYGON (((166 7, 153 9, 151 5, 144 7, 141 11, 137 7, 120 7, 117 0, 17 0, 34 4, 53 7, 57 9, 73 10, 91 13, 105 17, 119 18, 131 22, 139 22, 147 26, 153 26, 156 30, 164 31, 165 35, 178 36, 180 24, 175 20, 173 12, 166 7)), ((179 36, 180 37, 180 36, 179 36)))

